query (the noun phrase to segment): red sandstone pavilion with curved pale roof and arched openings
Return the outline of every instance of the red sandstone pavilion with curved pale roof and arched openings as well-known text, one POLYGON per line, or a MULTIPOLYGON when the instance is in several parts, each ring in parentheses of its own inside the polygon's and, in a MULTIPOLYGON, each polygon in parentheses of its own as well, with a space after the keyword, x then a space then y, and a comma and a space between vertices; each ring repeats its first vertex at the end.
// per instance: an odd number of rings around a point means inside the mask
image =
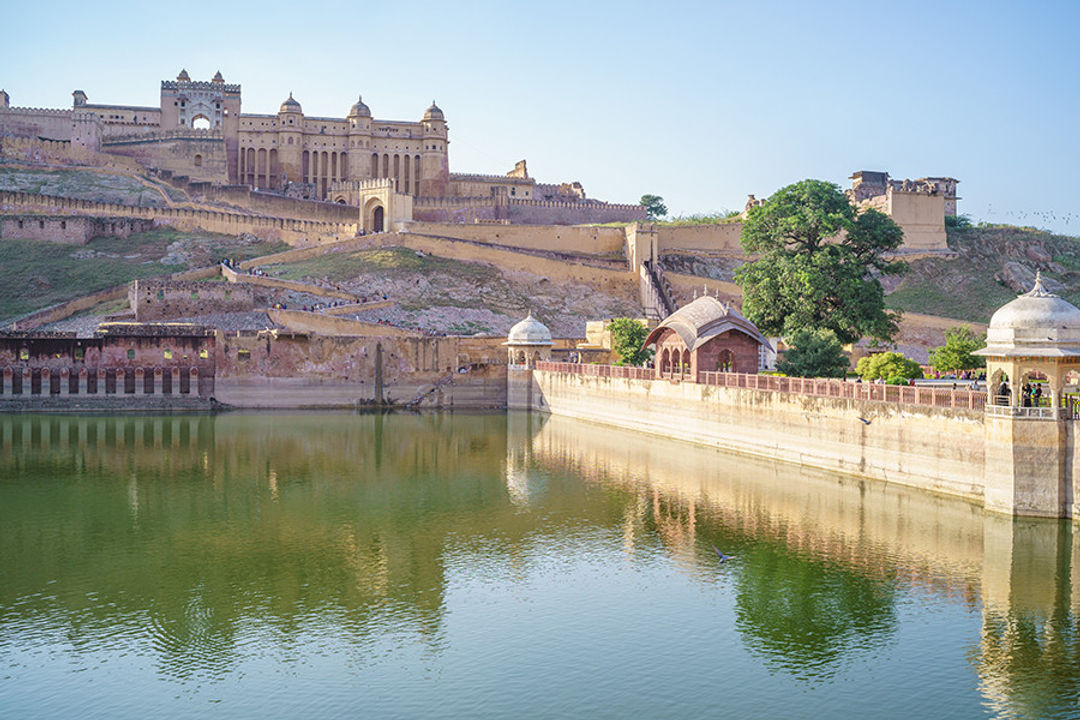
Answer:
POLYGON ((663 320, 645 339, 656 345, 657 378, 697 381, 701 372, 757 372, 772 345, 734 307, 708 296, 663 320))

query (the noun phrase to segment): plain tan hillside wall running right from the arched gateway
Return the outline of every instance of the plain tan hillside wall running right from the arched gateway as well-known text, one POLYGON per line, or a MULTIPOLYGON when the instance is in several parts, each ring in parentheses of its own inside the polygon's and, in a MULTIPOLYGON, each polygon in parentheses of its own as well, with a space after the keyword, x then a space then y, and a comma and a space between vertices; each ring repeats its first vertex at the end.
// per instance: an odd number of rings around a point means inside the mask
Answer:
POLYGON ((413 221, 402 223, 402 230, 419 235, 455 237, 503 247, 590 255, 621 253, 626 242, 626 234, 622 228, 413 221))

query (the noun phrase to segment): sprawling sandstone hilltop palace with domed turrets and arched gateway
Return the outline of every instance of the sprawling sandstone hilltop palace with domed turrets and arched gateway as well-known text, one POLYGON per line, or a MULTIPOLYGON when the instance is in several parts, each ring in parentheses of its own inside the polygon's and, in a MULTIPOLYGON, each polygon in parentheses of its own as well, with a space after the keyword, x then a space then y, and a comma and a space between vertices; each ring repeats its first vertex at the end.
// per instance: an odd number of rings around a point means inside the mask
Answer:
POLYGON ((181 70, 161 83, 159 107, 100 105, 72 93, 71 109, 10 107, 0 136, 69 144, 72 152, 126 155, 216 186, 357 206, 367 230, 393 220, 567 225, 638 220, 637 205, 592 200, 579 182, 540 184, 525 162, 507 175, 450 172, 446 117, 379 120, 357 98, 343 118, 306 116, 289 93, 274 114, 241 111, 239 84, 181 70), (366 212, 365 212, 366 210, 366 212))

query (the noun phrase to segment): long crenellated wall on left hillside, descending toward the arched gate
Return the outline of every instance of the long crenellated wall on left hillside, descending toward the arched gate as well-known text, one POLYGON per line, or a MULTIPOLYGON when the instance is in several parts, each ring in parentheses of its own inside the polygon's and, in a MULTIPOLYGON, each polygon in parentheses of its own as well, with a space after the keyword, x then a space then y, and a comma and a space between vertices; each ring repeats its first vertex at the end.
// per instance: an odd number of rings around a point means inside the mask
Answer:
POLYGON ((337 242, 356 234, 356 223, 354 222, 320 222, 292 218, 257 217, 187 207, 139 207, 26 192, 0 192, 0 212, 140 217, 152 219, 156 226, 181 230, 198 228, 228 235, 246 232, 265 240, 281 240, 289 244, 337 242))

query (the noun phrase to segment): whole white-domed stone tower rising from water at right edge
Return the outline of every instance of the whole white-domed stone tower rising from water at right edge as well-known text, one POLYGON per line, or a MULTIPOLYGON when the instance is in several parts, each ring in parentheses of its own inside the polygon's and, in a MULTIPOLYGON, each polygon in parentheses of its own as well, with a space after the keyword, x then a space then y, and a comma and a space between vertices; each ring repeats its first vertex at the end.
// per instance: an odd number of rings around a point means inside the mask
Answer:
POLYGON ((1042 287, 1000 308, 986 348, 987 510, 1078 517, 1080 309, 1042 287))

